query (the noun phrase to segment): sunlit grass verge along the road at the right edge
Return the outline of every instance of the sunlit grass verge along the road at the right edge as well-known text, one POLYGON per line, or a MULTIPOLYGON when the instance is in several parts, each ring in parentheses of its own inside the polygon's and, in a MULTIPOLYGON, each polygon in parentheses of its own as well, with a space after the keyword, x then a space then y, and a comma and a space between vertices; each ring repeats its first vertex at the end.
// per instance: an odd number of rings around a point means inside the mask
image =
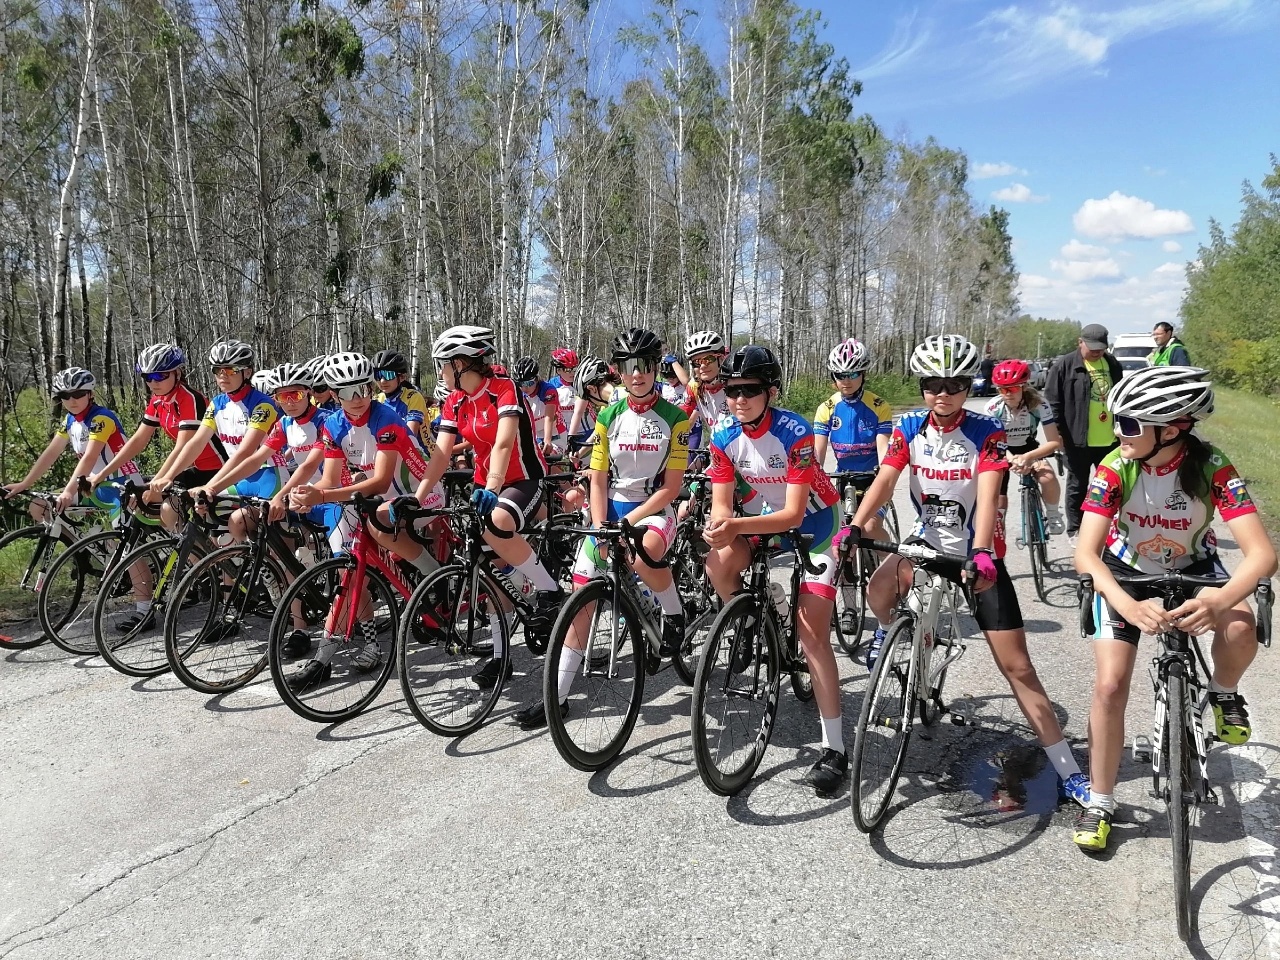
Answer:
POLYGON ((1262 522, 1280 544, 1280 442, 1276 420, 1280 403, 1256 393, 1213 388, 1213 416, 1201 434, 1221 447, 1249 485, 1262 522))

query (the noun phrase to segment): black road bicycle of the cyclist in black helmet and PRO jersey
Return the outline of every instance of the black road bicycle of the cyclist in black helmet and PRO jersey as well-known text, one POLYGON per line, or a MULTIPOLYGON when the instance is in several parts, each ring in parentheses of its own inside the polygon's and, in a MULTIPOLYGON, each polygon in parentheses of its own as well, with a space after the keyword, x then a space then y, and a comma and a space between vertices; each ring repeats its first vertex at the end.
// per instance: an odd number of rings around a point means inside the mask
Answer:
MULTIPOLYGON (((792 556, 790 596, 800 596, 803 575, 819 573, 809 561, 813 536, 785 534, 792 556)), ((746 588, 733 594, 712 622, 698 659, 691 708, 694 763, 707 788, 737 794, 764 759, 778 713, 782 675, 796 698, 813 699, 813 678, 799 640, 799 604, 773 596, 769 557, 774 538, 751 538, 746 588)))

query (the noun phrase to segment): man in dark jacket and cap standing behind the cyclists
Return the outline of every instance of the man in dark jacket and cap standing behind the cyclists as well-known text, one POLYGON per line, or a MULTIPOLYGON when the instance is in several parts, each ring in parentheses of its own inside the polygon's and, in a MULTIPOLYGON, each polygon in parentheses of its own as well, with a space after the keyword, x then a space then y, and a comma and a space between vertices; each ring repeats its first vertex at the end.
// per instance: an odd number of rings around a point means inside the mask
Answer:
POLYGON ((1120 383, 1124 369, 1107 353, 1107 328, 1089 324, 1080 330, 1079 348, 1064 353, 1050 367, 1044 399, 1053 408, 1066 458, 1066 535, 1075 544, 1080 504, 1089 477, 1102 457, 1116 445, 1107 390, 1120 383))

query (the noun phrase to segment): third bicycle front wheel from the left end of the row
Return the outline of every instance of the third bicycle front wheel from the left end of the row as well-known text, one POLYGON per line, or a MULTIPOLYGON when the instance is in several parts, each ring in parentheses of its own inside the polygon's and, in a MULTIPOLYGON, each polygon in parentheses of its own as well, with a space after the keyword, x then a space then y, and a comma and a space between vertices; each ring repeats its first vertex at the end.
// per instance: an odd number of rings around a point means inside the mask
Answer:
POLYGON ((93 637, 102 659, 127 677, 157 677, 169 669, 164 621, 168 602, 182 576, 179 550, 180 544, 174 540, 141 544, 124 554, 102 577, 93 603, 93 637), (150 568, 151 617, 127 628, 120 617, 133 616, 136 609, 132 588, 125 588, 124 582, 131 580, 131 571, 140 563, 150 568))

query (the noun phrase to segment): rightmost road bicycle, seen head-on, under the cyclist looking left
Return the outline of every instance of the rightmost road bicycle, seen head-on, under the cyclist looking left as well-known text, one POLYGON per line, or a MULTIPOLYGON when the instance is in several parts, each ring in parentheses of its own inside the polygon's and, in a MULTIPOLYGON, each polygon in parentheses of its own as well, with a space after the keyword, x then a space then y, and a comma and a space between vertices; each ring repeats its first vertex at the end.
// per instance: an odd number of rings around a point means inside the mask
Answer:
MULTIPOLYGON (((1135 586, 1161 596, 1165 609, 1180 607, 1197 588, 1219 586, 1221 577, 1185 573, 1115 575, 1121 586, 1135 586)), ((1079 582, 1080 635, 1092 639, 1103 616, 1102 599, 1094 593, 1093 577, 1079 582)), ((1257 604, 1258 643, 1271 645, 1270 580, 1260 580, 1253 593, 1257 604)), ((1208 745, 1215 724, 1208 705, 1208 678, 1212 671, 1199 640, 1170 627, 1156 636, 1156 655, 1151 660, 1151 681, 1156 698, 1149 748, 1134 740, 1134 759, 1151 762, 1151 796, 1161 800, 1169 813, 1169 838, 1172 844, 1174 914, 1178 936, 1184 941, 1196 933, 1192 913, 1190 867, 1192 833, 1199 820, 1199 808, 1217 804, 1208 781, 1208 745), (1206 717, 1206 713, 1208 717, 1206 717)))

